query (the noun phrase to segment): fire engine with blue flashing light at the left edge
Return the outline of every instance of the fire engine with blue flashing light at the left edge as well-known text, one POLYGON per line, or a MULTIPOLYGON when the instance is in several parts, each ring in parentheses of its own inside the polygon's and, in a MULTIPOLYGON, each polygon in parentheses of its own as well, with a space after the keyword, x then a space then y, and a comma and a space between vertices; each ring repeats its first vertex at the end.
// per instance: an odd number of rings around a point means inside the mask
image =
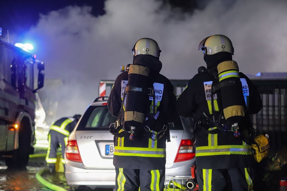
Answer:
POLYGON ((0 40, 0 159, 25 167, 35 144, 36 91, 44 85, 44 63, 0 40))

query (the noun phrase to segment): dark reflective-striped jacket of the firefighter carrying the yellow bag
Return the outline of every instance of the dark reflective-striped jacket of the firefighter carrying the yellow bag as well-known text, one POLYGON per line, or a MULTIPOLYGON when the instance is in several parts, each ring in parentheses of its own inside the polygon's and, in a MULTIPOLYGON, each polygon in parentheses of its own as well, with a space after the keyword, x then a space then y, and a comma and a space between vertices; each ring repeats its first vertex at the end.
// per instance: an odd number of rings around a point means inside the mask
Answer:
MULTIPOLYGON (((244 81, 242 84, 244 85, 243 91, 247 103, 245 114, 247 116, 256 114, 262 108, 262 100, 258 89, 246 75, 239 73, 239 76, 244 81)), ((189 80, 186 89, 177 99, 177 112, 180 116, 194 117, 195 122, 202 121, 203 112, 212 116, 210 89, 214 78, 209 71, 205 71, 196 74, 189 80)), ((240 138, 229 138, 217 128, 211 127, 212 125, 205 126, 207 125, 196 125, 194 130, 196 165, 199 168, 251 167, 254 158, 250 145, 240 138)))

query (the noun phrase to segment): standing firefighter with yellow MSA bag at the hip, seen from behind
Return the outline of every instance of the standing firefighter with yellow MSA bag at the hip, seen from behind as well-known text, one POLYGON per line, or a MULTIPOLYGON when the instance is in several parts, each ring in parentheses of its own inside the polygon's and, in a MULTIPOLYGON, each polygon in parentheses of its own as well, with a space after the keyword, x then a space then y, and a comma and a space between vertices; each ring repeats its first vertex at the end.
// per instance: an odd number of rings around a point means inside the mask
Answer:
POLYGON ((176 106, 180 116, 194 117, 199 190, 251 191, 250 170, 255 160, 251 152, 249 116, 262 108, 260 94, 232 60, 234 49, 228 37, 209 36, 198 49, 203 51, 207 67, 199 68, 198 74, 189 80, 176 106), (220 85, 214 86, 215 82, 220 85), (239 131, 235 132, 231 124, 236 124, 236 120, 239 131))

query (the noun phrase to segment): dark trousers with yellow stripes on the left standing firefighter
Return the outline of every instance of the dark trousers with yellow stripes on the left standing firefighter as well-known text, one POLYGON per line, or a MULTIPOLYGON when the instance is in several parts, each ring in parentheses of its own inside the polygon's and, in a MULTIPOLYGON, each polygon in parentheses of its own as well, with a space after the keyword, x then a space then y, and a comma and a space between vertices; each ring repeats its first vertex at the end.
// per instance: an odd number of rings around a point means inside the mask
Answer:
POLYGON ((116 191, 163 191, 165 169, 147 170, 116 167, 116 191))

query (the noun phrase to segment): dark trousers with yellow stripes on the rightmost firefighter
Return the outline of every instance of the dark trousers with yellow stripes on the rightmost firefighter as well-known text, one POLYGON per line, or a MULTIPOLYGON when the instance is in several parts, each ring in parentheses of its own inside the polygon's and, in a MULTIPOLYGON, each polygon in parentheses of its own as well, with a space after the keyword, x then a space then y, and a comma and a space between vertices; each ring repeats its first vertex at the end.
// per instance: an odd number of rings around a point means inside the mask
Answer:
POLYGON ((249 168, 196 169, 199 191, 253 191, 249 168))

